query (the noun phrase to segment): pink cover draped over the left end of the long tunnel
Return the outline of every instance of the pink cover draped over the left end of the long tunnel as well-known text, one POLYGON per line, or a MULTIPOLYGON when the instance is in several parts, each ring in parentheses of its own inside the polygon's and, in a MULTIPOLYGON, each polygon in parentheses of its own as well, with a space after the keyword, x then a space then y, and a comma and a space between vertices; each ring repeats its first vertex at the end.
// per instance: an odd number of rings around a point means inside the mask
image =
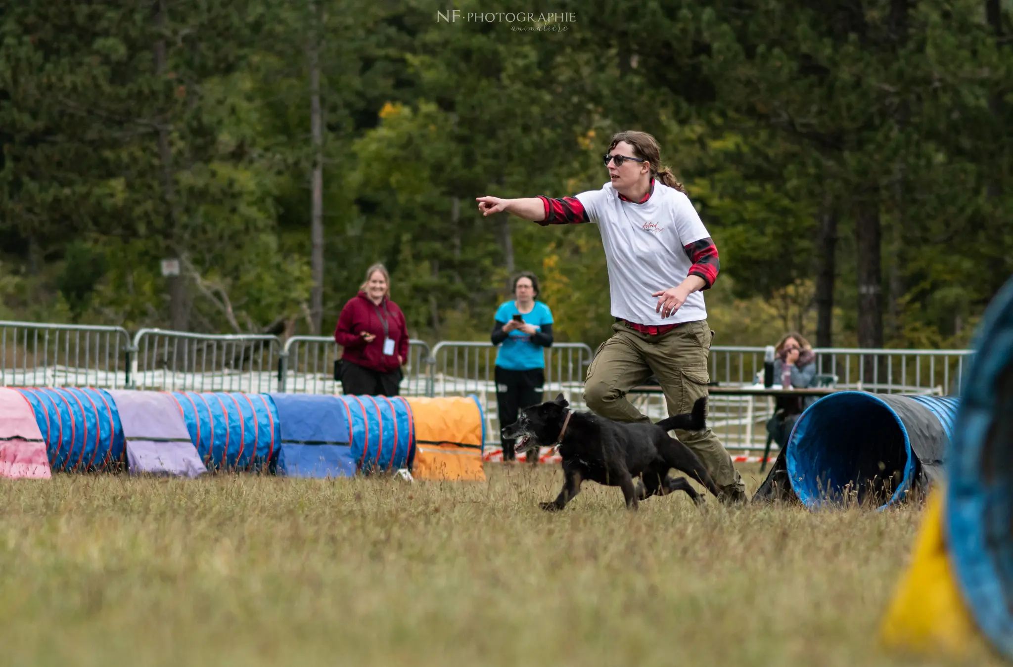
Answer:
POLYGON ((50 457, 31 405, 0 387, 0 477, 48 480, 50 457))

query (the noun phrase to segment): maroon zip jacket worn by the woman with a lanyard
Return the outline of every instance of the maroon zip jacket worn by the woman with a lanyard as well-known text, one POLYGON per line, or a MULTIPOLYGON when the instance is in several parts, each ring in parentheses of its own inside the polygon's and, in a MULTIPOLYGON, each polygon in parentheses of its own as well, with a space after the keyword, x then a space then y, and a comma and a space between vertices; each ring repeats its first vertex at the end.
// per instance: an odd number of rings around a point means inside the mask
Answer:
POLYGON ((404 363, 408 362, 408 327, 404 322, 404 313, 387 298, 379 306, 375 306, 365 291, 349 299, 337 318, 334 340, 344 348, 341 351, 342 359, 371 370, 396 370, 398 354, 404 363), (387 319, 387 335, 394 339, 394 353, 391 355, 383 353, 383 322, 377 309, 387 319), (367 331, 376 338, 372 343, 367 343, 360 335, 361 331, 367 331))

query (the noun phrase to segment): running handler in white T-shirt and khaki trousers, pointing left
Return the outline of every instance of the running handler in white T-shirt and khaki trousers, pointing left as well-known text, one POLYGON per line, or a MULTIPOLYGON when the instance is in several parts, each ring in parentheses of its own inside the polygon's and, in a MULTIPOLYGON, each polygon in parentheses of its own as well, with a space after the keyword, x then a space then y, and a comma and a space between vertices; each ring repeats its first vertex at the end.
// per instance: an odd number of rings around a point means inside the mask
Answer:
MULTIPOLYGON (((719 269, 717 248, 682 183, 661 166, 653 137, 621 132, 604 156, 609 182, 576 196, 477 197, 484 216, 513 214, 539 225, 597 223, 609 268, 612 337, 588 368, 588 407, 617 421, 649 421, 626 395, 654 374, 670 415, 707 396, 714 332, 703 290, 719 269)), ((677 431, 721 487, 725 503, 746 502, 746 486, 714 432, 677 431)))

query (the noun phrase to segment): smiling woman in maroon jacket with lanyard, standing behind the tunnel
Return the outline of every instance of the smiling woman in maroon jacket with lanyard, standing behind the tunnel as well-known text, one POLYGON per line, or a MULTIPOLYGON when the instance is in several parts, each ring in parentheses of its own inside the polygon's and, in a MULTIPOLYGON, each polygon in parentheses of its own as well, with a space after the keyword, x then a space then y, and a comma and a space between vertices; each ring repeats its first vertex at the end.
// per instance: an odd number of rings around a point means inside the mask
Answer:
POLYGON ((359 294, 341 309, 334 340, 343 348, 343 394, 397 396, 401 365, 408 358, 408 328, 390 300, 390 274, 383 264, 370 266, 359 294))

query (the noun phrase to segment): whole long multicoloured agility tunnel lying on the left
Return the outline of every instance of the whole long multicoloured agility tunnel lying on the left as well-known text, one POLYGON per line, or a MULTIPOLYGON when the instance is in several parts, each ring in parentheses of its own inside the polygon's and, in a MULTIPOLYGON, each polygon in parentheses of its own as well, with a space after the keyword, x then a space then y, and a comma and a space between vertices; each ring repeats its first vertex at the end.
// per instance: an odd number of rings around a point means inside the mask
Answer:
POLYGON ((346 477, 419 469, 484 479, 474 396, 405 399, 22 388, 0 392, 0 477, 249 471, 346 477), (415 411, 420 413, 416 414, 415 411), (416 455, 417 444, 424 454, 416 455))

